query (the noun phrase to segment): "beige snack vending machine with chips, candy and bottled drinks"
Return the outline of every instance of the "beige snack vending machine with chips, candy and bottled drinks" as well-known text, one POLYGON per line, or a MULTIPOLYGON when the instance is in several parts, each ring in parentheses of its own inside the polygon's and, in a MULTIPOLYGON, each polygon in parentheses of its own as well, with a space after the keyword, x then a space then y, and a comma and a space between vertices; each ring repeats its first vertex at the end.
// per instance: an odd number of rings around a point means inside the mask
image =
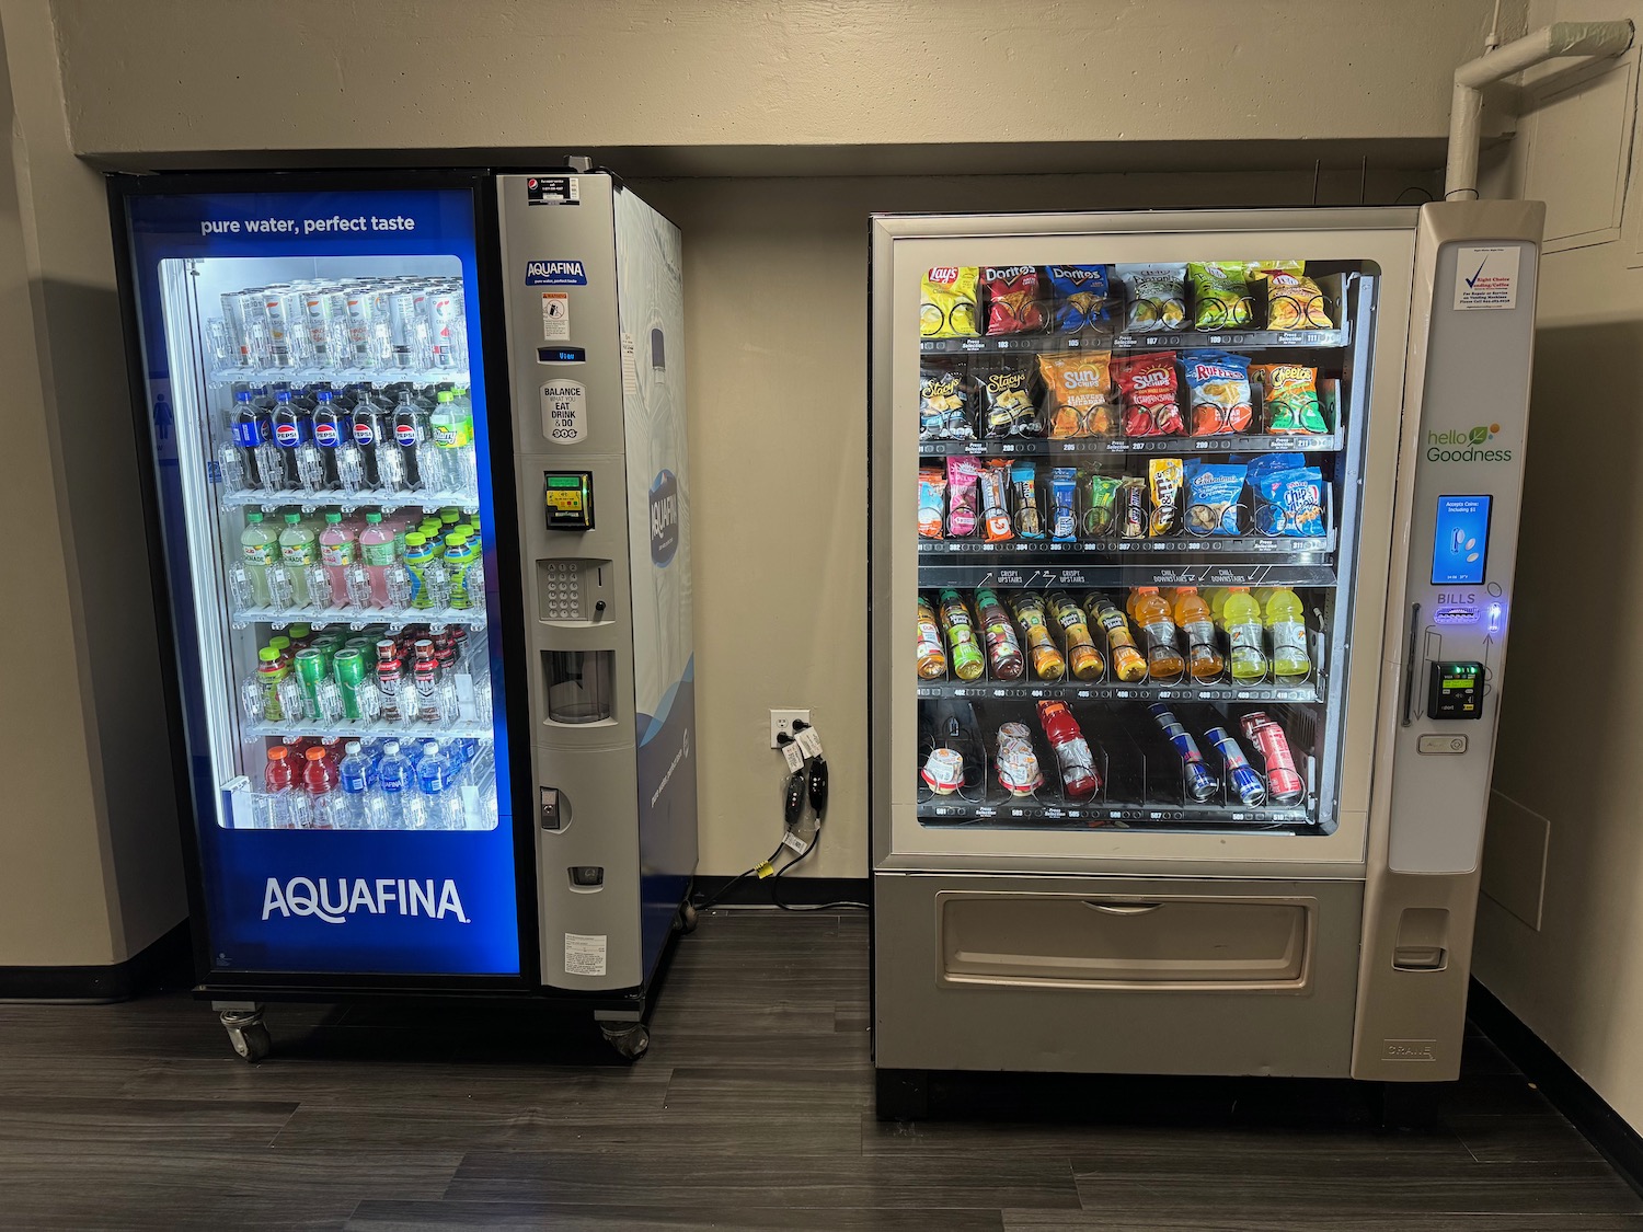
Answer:
POLYGON ((874 218, 881 1115, 1456 1076, 1541 218, 874 218))

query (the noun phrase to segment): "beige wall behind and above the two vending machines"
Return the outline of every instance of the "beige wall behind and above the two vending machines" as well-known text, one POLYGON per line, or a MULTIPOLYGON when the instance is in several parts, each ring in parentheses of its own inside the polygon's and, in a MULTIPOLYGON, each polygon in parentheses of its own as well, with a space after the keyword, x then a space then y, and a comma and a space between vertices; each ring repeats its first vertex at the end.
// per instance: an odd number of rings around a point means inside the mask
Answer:
MULTIPOLYGON (((72 915, 90 897, 54 879, 67 869, 100 879, 108 903, 105 956, 92 946, 59 958, 18 941, 21 920, 41 917, 5 895, 0 963, 123 958, 181 915, 143 557, 110 534, 130 527, 138 458, 108 233, 95 176, 72 154, 138 168, 480 164, 578 146, 613 151, 628 174, 1288 168, 642 186, 683 225, 690 264, 703 871, 734 872, 769 849, 780 775, 764 711, 808 705, 835 767, 833 830, 808 872, 861 876, 866 214, 996 200, 1295 204, 1313 199, 1314 159, 1319 200, 1355 200, 1360 156, 1369 199, 1387 200, 1429 182, 1375 168, 1436 163, 1451 66, 1479 48, 1490 8, 0 0, 41 384, 12 407, 51 460, 49 491, 44 471, 26 491, 30 508, 49 494, 56 509, 51 623, 79 664, 72 696, 49 677, 62 708, 51 738, 39 734, 48 724, 23 724, 44 746, 16 787, 38 802, 36 820, 0 810, 0 838, 15 825, 26 843, 8 851, 38 849, 31 862, 0 862, 0 877, 72 915), (956 141, 966 145, 943 148, 956 141), (802 294, 795 278, 807 279, 802 294), (41 808, 62 820, 39 821, 41 808), (92 838, 76 846, 82 830, 92 838)), ((0 269, 20 278, 13 255, 0 251, 0 269)), ((8 675, 8 692, 23 678, 8 675)), ((48 931, 77 936, 82 923, 48 931)))

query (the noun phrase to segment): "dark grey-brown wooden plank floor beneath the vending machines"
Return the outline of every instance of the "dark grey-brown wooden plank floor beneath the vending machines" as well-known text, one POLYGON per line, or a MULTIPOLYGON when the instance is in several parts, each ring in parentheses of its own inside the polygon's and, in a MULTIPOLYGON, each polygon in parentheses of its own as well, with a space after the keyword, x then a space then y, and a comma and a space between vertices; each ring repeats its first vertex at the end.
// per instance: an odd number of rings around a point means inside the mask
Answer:
POLYGON ((868 923, 715 912, 647 1058, 526 1007, 0 1004, 0 1229, 1643 1232, 1643 1201, 1484 1038, 1441 1122, 1342 1083, 966 1079, 872 1119, 868 923))

